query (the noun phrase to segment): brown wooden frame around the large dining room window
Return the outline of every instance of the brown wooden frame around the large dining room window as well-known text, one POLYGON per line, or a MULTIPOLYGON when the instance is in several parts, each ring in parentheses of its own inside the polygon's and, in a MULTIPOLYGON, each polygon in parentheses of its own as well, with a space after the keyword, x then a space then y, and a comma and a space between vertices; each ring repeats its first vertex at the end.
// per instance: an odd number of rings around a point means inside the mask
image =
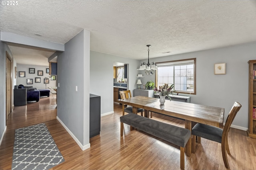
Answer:
MULTIPOLYGON (((181 93, 181 94, 196 94, 196 58, 191 58, 191 59, 181 59, 181 60, 173 60, 173 61, 162 61, 162 62, 157 62, 156 64, 162 64, 162 63, 174 63, 174 62, 182 62, 182 61, 189 61, 189 60, 194 60, 194 92, 185 92, 185 91, 179 91, 176 90, 176 92, 181 93)), ((158 66, 160 67, 160 66, 158 66)), ((158 85, 158 70, 156 70, 155 74, 155 82, 156 85, 158 85)), ((157 87, 158 88, 158 87, 157 87)))

